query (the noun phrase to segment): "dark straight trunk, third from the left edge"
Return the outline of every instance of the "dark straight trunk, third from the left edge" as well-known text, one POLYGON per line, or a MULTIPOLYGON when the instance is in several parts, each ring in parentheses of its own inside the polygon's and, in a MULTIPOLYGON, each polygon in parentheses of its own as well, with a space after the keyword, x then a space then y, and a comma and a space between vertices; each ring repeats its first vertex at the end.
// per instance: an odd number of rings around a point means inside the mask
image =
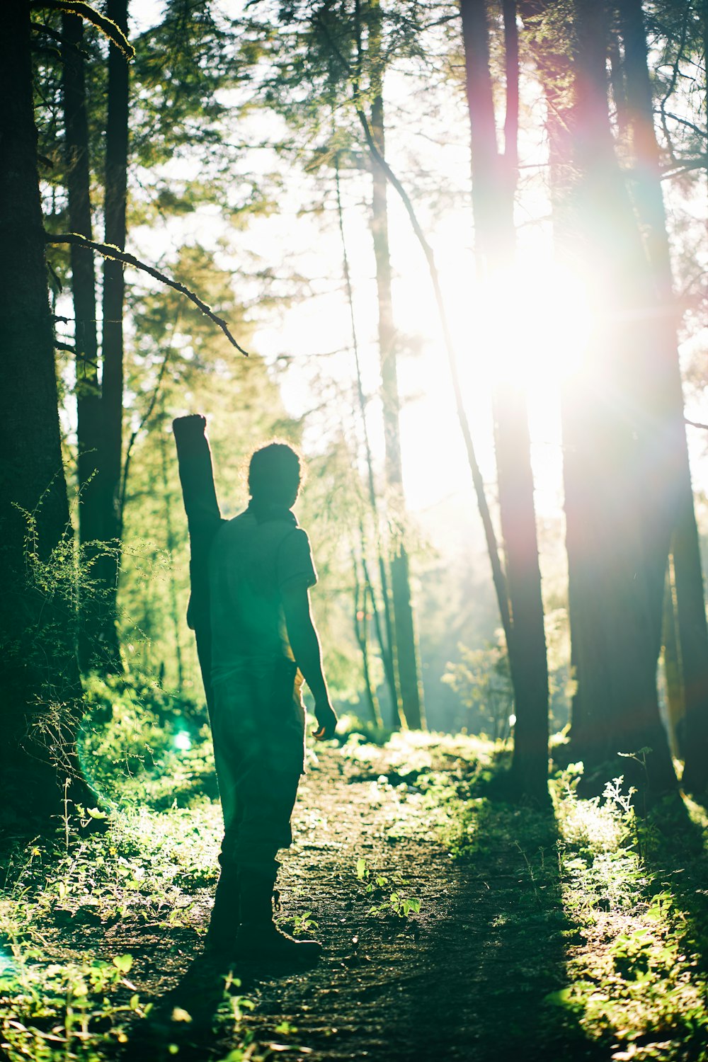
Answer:
MULTIPOLYGON (((108 0, 108 18, 127 34, 127 0, 108 0)), ((115 45, 108 46, 108 115, 106 122, 104 239, 125 250, 125 207, 127 198, 128 66, 115 45)), ((121 468, 123 446, 123 266, 103 260, 103 377, 101 415, 103 453, 101 493, 106 538, 113 552, 102 567, 103 593, 107 602, 104 637, 111 663, 120 667, 116 599, 120 572, 123 517, 121 512, 121 468)))

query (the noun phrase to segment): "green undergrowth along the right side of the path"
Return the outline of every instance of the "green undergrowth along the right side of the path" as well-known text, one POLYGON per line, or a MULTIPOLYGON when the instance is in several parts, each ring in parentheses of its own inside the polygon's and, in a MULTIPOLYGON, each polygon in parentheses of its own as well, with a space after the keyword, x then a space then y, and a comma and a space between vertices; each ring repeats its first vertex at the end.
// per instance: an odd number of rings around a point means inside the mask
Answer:
POLYGON ((461 799, 438 775, 430 795, 445 843, 482 874, 495 860, 516 866, 518 896, 498 915, 516 923, 515 948, 536 950, 539 920, 546 939, 557 932, 557 987, 534 1017, 538 1035, 581 1038, 579 1057, 705 1062, 705 812, 675 795, 640 817, 621 777, 582 800, 581 773, 574 765, 552 778, 552 813, 474 796, 474 785, 461 799))

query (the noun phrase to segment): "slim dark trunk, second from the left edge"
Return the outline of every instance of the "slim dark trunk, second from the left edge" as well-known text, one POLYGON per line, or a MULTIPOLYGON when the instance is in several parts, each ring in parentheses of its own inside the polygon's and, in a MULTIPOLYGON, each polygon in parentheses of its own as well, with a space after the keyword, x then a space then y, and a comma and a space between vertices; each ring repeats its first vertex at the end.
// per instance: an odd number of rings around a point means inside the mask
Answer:
MULTIPOLYGON (((62 87, 64 97, 66 186, 69 229, 92 239, 88 116, 80 15, 62 15, 62 87)), ((76 448, 79 479, 79 542, 87 580, 80 584, 79 657, 84 670, 102 658, 103 595, 100 572, 104 538, 99 477, 101 453, 101 395, 96 329, 93 252, 71 245, 71 293, 76 352, 76 448), (99 585, 96 583, 99 582, 99 585), (90 584, 93 585, 90 585, 90 584)))

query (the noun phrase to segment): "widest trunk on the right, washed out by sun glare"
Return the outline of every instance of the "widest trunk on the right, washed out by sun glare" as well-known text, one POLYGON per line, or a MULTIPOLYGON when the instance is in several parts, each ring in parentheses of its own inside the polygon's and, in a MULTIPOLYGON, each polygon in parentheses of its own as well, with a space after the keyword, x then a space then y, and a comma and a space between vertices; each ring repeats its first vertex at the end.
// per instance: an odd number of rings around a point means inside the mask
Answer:
POLYGON ((569 22, 543 0, 520 7, 548 101, 556 239, 593 286, 587 352, 562 398, 572 742, 590 773, 619 767, 662 790, 675 785, 656 690, 674 502, 661 446, 672 425, 647 379, 657 364, 646 260, 608 115, 605 8, 575 0, 569 22), (642 766, 618 764, 620 753, 640 754, 642 766))

